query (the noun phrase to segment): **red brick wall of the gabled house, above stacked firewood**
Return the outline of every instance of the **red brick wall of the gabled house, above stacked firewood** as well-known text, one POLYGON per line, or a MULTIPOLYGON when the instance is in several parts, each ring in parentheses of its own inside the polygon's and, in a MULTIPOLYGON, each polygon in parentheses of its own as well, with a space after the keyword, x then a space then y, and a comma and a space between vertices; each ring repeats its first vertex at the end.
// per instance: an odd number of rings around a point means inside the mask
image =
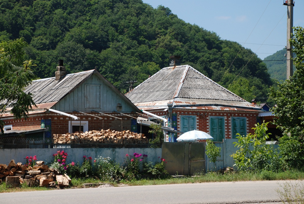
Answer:
MULTIPOLYGON (((90 113, 92 115, 104 118, 104 129, 112 129, 121 131, 121 120, 109 116, 104 116, 99 113, 90 113)), ((102 119, 99 119, 94 116, 89 116, 86 114, 73 113, 73 115, 81 118, 81 121, 88 121, 88 130, 99 130, 102 129, 102 119)), ((109 114, 117 118, 123 118, 123 130, 131 130, 131 117, 122 116, 120 114, 109 114)), ((137 114, 129 114, 137 118, 137 114)), ((51 119, 51 132, 53 134, 64 134, 68 132, 70 118, 64 115, 56 113, 42 113, 29 115, 29 118, 13 120, 13 119, 4 119, 5 125, 13 125, 13 130, 33 130, 41 127, 41 120, 51 119)), ((74 119, 72 119, 74 121, 74 119)), ((79 121, 79 120, 77 120, 79 121)))

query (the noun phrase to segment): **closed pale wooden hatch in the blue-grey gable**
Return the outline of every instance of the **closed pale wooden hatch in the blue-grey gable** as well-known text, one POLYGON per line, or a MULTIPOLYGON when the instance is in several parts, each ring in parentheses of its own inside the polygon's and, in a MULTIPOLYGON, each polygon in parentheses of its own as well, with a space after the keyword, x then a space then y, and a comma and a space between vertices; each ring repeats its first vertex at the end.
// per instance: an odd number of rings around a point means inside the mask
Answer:
POLYGON ((100 85, 85 85, 85 108, 100 108, 100 85))

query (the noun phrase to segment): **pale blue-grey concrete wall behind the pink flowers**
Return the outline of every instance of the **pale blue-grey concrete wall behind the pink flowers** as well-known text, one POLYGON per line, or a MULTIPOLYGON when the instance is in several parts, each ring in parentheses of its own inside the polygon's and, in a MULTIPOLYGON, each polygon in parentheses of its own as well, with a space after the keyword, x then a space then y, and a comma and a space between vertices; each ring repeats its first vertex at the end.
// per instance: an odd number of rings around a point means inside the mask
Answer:
POLYGON ((0 149, 0 164, 9 164, 13 159, 15 162, 26 163, 26 156, 37 156, 38 161, 52 162, 53 154, 58 150, 67 152, 67 163, 79 162, 82 164, 83 156, 97 158, 98 156, 110 157, 119 164, 124 163, 126 154, 133 155, 134 152, 147 154, 147 160, 156 162, 161 157, 161 148, 52 148, 52 149, 0 149))

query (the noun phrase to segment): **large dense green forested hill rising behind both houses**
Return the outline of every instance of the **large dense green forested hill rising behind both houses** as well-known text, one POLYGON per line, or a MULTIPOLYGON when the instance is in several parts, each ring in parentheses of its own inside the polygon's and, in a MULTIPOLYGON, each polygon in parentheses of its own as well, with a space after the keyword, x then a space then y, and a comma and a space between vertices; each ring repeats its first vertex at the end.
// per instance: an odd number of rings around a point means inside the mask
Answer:
POLYGON ((63 59, 67 72, 96 67, 125 91, 124 82, 142 82, 167 67, 169 56, 181 55, 182 64, 225 87, 238 74, 248 79, 261 101, 272 83, 251 50, 141 0, 1 0, 0 9, 0 40, 24 37, 40 78, 54 76, 63 59))

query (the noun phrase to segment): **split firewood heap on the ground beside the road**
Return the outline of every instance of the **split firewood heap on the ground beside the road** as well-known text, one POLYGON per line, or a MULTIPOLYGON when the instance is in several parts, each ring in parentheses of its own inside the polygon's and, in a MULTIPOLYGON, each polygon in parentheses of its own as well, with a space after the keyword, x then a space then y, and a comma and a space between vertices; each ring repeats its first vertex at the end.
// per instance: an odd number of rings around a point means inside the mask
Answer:
POLYGON ((30 187, 42 186, 52 188, 55 187, 55 181, 57 180, 59 187, 62 188, 71 183, 71 179, 66 174, 64 176, 59 175, 59 171, 49 168, 44 164, 44 161, 36 161, 36 165, 33 167, 26 167, 26 165, 22 165, 20 162, 15 164, 14 160, 9 165, 0 164, 0 180, 4 179, 6 184, 12 187, 25 183, 30 187))

